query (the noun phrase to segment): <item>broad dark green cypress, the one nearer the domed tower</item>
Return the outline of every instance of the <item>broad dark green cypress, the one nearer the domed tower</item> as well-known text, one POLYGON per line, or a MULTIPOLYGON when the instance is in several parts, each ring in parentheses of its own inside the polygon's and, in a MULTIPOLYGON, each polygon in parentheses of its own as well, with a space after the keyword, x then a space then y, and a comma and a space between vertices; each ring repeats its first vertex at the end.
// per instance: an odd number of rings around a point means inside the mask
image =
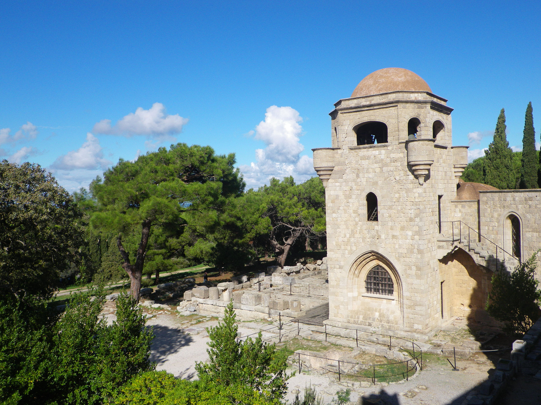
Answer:
POLYGON ((483 167, 483 183, 509 190, 514 188, 516 181, 513 172, 513 151, 509 147, 505 136, 505 110, 500 111, 494 140, 485 151, 485 165, 483 167))

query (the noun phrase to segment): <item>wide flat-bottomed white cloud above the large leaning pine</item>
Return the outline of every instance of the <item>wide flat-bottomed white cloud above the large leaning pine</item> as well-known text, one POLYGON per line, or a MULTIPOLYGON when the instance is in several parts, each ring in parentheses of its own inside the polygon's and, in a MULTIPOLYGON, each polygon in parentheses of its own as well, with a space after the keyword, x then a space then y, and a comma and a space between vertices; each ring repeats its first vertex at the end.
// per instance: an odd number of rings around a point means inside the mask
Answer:
POLYGON ((94 125, 93 132, 127 137, 147 135, 161 138, 180 133, 186 123, 187 118, 182 118, 179 114, 168 115, 163 104, 154 103, 149 110, 139 107, 135 113, 129 113, 114 126, 111 126, 110 119, 103 119, 94 125))

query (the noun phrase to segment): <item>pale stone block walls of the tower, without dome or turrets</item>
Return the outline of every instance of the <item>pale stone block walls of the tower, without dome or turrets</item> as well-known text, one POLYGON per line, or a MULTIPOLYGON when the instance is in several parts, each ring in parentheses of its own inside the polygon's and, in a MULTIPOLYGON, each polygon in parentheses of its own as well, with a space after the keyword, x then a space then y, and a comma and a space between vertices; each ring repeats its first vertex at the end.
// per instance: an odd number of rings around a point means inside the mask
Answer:
POLYGON ((332 322, 419 334, 440 324, 438 195, 443 195, 442 217, 451 218, 457 181, 450 148, 451 117, 434 109, 433 102, 445 105, 426 93, 397 92, 341 100, 331 113, 333 147, 340 148, 326 187, 332 322), (432 138, 435 119, 445 124, 436 140, 430 176, 422 186, 407 165, 405 140, 412 117, 421 120, 420 138, 432 138), (387 125, 388 143, 357 146, 354 127, 372 120, 387 125), (377 222, 367 221, 368 192, 378 197, 377 222), (394 303, 362 296, 364 280, 351 281, 355 261, 371 251, 393 267, 399 284, 394 303))

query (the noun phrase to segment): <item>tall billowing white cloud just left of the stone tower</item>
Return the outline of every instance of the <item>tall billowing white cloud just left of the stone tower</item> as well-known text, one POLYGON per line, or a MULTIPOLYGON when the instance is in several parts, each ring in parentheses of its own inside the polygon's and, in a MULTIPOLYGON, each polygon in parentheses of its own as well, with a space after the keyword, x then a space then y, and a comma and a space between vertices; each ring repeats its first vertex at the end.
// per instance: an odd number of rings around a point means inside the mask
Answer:
POLYGON ((293 176, 301 182, 316 176, 313 159, 300 156, 304 146, 300 143, 302 118, 292 107, 268 107, 265 120, 255 127, 255 139, 267 144, 265 149, 256 149, 257 162, 240 166, 248 188, 259 187, 268 180, 293 176))

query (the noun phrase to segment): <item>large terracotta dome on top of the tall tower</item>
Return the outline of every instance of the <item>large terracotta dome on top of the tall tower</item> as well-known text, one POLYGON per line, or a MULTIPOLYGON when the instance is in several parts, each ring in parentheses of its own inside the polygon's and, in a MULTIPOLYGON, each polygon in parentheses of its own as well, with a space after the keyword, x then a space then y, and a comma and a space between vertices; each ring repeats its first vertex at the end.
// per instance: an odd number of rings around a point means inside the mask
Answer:
POLYGON ((386 68, 370 73, 353 90, 351 97, 372 96, 391 91, 428 91, 430 86, 411 70, 386 68))

